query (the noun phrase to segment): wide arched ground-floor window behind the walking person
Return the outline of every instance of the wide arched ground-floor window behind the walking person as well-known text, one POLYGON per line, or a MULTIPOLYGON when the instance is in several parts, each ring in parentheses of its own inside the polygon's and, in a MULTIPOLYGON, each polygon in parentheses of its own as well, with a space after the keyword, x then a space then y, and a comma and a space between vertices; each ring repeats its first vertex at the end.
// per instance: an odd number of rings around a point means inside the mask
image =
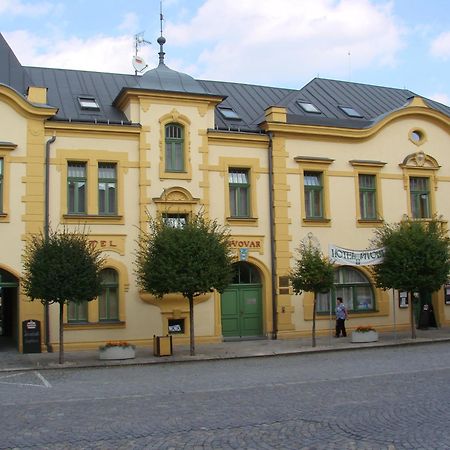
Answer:
POLYGON ((349 311, 375 311, 375 296, 369 279, 359 270, 340 267, 334 274, 334 287, 317 296, 317 312, 334 313, 336 298, 342 297, 349 311))

